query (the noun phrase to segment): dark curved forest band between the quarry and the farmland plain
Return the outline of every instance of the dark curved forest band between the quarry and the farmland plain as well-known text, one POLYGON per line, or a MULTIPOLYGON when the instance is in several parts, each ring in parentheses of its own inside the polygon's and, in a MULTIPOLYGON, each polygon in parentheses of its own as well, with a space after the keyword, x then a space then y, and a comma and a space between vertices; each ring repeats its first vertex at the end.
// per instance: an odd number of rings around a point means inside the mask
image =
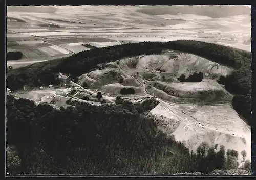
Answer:
POLYGON ((15 91, 27 84, 30 86, 57 84, 59 81, 55 74, 58 72, 80 76, 91 71, 97 64, 142 55, 151 49, 159 48, 195 54, 235 69, 227 78, 222 78, 226 80, 222 83, 234 95, 232 100, 234 109, 249 125, 251 124, 251 53, 201 41, 140 42, 95 48, 67 58, 10 70, 7 74, 8 88, 15 91))

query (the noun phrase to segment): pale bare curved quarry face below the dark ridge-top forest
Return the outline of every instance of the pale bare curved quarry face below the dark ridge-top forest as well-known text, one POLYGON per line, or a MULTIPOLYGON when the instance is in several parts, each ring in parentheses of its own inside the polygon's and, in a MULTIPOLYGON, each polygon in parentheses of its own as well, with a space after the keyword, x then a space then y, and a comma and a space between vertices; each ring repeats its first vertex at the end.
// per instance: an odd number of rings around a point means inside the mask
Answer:
POLYGON ((186 76, 201 71, 205 77, 219 78, 231 73, 232 69, 208 59, 188 54, 174 53, 170 55, 147 55, 139 59, 138 64, 146 69, 159 69, 176 75, 186 76))

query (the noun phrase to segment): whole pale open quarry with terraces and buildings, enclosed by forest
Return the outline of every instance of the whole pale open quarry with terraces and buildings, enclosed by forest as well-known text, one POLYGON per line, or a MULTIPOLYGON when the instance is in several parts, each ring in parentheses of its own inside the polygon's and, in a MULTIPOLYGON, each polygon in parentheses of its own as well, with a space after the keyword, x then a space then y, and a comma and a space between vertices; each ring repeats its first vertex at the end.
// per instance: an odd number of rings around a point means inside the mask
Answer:
POLYGON ((101 70, 80 75, 77 83, 67 74, 59 73, 62 84, 58 87, 44 87, 15 96, 57 108, 69 106, 66 103, 69 99, 100 106, 115 103, 116 97, 135 104, 157 98, 159 105, 149 116, 156 119, 161 130, 185 142, 189 149, 195 151, 198 145, 207 142, 250 153, 250 127, 232 109, 232 94, 217 82, 232 70, 193 54, 168 50, 107 63, 101 70), (178 80, 181 74, 188 76, 199 71, 204 76, 201 82, 178 80), (123 88, 134 92, 122 94, 123 88), (97 92, 102 94, 100 101, 96 98, 97 92), (85 96, 87 99, 83 99, 85 96))

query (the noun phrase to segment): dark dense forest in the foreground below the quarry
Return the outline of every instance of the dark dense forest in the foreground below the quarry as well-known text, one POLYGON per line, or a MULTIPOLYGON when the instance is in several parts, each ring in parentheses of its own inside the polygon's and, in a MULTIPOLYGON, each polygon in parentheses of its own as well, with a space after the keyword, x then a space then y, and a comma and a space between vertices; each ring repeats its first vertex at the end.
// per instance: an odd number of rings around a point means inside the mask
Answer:
POLYGON ((250 171, 243 155, 202 143, 189 152, 145 116, 156 99, 67 109, 7 96, 7 168, 31 174, 175 174, 250 171), (82 138, 81 138, 82 137, 82 138))

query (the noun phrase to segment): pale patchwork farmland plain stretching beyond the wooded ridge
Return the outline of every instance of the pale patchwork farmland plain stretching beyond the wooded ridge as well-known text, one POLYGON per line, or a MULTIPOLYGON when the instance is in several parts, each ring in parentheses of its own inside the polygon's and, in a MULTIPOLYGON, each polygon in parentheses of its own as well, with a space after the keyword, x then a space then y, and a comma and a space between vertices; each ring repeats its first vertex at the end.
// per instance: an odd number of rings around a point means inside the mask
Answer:
POLYGON ((89 50, 81 46, 82 43, 104 47, 179 39, 220 43, 250 51, 248 14, 228 17, 189 14, 189 11, 161 14, 146 6, 119 6, 118 10, 109 6, 108 11, 104 6, 79 6, 76 11, 72 6, 54 8, 51 13, 42 13, 10 7, 7 10, 7 51, 20 50, 25 55, 24 60, 40 61, 41 57, 89 50), (27 43, 29 41, 32 42, 27 43), (70 46, 68 43, 80 44, 70 46), (23 47, 24 44, 28 46, 23 47), (52 45, 58 50, 47 47, 52 45))

